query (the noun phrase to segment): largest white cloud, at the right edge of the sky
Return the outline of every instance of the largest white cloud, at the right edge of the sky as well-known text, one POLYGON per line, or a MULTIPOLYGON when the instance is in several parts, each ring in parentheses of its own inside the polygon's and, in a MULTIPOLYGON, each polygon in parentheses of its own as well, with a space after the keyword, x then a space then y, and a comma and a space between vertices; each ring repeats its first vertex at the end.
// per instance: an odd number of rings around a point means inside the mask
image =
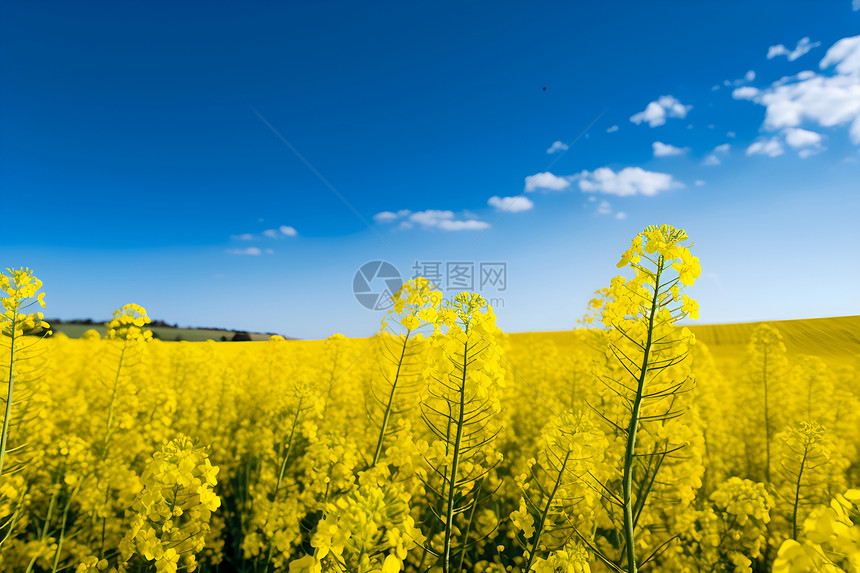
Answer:
MULTIPOLYGON (((850 124, 851 140, 860 145, 860 36, 836 42, 819 67, 833 67, 835 74, 806 70, 750 94, 748 99, 765 107, 763 128, 787 133, 804 123, 821 127, 850 124)), ((771 148, 775 150, 773 145, 771 148)))

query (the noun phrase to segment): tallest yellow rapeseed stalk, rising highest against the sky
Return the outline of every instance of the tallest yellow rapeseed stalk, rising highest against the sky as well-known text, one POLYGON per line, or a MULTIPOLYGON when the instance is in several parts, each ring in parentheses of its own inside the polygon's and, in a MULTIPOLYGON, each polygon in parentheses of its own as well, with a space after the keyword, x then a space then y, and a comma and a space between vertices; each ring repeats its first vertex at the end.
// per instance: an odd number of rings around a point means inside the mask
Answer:
POLYGON ((619 268, 631 268, 634 277, 616 277, 602 291, 602 299, 592 302, 608 329, 606 353, 615 364, 601 381, 624 406, 617 415, 598 413, 624 442, 621 495, 607 499, 622 513, 623 555, 615 567, 628 573, 641 566, 637 522, 657 474, 668 456, 684 445, 672 443, 660 427, 685 413, 681 398, 693 385, 685 361, 695 338, 675 326, 688 316, 698 318, 698 303, 682 294, 701 272, 698 259, 682 244, 686 240, 684 231, 669 225, 647 227, 618 263, 619 268), (643 437, 647 443, 640 444, 643 437))

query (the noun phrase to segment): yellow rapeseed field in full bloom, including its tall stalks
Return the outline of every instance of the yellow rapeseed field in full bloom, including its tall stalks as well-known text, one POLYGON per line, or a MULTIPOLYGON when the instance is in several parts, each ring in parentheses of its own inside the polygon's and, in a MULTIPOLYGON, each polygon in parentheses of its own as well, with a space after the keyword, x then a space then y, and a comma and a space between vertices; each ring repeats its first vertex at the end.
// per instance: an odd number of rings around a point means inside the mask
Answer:
POLYGON ((0 570, 860 571, 856 345, 679 326, 694 250, 645 229, 570 333, 419 278, 373 338, 238 344, 38 336, 9 269, 0 570))

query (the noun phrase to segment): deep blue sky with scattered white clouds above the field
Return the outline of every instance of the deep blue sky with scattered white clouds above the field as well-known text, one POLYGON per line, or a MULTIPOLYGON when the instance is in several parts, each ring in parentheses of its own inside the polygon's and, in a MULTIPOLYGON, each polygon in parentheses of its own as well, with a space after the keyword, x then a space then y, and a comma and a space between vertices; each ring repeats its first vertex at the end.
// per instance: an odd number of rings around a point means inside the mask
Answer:
POLYGON ((2 11, 2 265, 49 316, 362 336, 385 260, 568 329, 661 223, 701 322, 860 313, 860 0, 2 11))

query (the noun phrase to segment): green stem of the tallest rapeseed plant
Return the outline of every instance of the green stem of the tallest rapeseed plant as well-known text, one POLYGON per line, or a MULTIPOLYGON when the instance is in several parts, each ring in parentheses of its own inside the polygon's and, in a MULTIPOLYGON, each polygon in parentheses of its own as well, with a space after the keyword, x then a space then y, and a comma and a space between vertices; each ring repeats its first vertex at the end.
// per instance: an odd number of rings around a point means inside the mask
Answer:
POLYGON ((636 546, 633 524, 633 454, 636 450, 636 431, 639 428, 639 410, 642 407, 642 396, 645 393, 645 377, 648 374, 648 358, 651 353, 651 339, 654 335, 654 316, 657 314, 658 295, 660 292, 660 274, 663 272, 663 256, 657 263, 657 273, 654 276, 654 297, 651 300, 651 311, 648 315, 648 339, 642 356, 642 367, 636 388, 636 398, 633 401, 633 412, 630 415, 630 425, 627 428, 627 447, 624 451, 624 478, 622 480, 624 502, 624 541, 627 547, 627 572, 636 573, 636 546))

